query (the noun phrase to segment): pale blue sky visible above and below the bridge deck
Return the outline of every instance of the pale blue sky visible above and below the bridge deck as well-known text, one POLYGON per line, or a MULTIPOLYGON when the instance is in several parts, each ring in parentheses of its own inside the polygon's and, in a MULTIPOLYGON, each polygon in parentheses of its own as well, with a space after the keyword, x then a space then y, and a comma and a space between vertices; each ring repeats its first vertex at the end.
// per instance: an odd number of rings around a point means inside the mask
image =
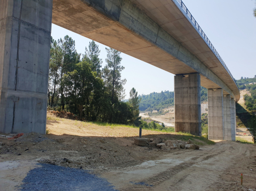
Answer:
MULTIPOLYGON (((256 18, 252 0, 183 0, 190 13, 199 23, 215 49, 223 58, 235 79, 241 76, 256 75, 256 18)), ((76 50, 84 53, 90 39, 52 25, 54 39, 69 35, 76 41, 76 50)), ((101 50, 100 57, 105 65, 105 45, 97 43, 101 50)), ((174 75, 150 64, 121 54, 122 77, 127 79, 124 86, 126 99, 133 87, 139 94, 151 92, 174 91, 174 75)))

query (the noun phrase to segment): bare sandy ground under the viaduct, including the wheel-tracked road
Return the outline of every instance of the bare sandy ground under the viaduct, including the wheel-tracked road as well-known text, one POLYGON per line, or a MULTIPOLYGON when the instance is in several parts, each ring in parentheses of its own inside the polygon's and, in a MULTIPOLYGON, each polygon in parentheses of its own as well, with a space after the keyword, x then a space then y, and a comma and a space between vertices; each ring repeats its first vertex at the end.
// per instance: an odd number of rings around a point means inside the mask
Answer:
MULTIPOLYGON (((59 190, 68 190, 61 187, 67 180, 73 180, 69 190, 111 190, 106 182, 116 190, 256 190, 253 144, 216 141, 212 145, 212 141, 191 135, 143 129, 144 138, 191 139, 200 145, 200 150, 163 151, 134 145, 138 128, 68 120, 51 113, 47 114, 47 132, 47 135, 24 134, 17 139, 0 138, 1 191, 49 190, 47 182, 42 180, 33 189, 25 186, 40 172, 38 166, 47 170, 44 165, 55 166, 49 168, 54 170, 49 172, 52 180, 58 169, 64 171, 61 168, 77 169, 77 174, 88 170, 88 174, 104 180, 98 182, 101 187, 87 189, 81 187, 81 181, 75 185, 80 176, 76 178, 69 172, 66 177, 56 176, 52 183, 59 190)), ((45 180, 49 177, 42 175, 45 180)), ((90 182, 89 178, 82 182, 90 182)))

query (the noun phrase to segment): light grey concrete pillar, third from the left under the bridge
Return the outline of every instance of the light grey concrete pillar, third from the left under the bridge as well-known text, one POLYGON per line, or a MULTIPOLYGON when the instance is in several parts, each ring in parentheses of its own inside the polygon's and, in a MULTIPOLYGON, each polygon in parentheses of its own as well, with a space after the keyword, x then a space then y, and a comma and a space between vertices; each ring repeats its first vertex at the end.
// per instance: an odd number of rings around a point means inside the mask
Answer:
POLYGON ((223 89, 208 89, 208 136, 224 140, 223 89))

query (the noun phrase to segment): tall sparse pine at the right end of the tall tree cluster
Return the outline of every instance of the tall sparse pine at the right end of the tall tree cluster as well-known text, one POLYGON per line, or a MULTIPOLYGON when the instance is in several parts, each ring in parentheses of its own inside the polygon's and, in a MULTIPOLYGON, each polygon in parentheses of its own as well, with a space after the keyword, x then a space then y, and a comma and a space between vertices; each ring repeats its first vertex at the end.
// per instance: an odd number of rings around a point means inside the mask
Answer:
POLYGON ((107 51, 106 63, 104 68, 104 76, 106 86, 112 91, 111 102, 114 104, 114 95, 118 97, 119 100, 124 99, 124 85, 126 84, 126 79, 121 79, 121 71, 124 67, 121 65, 122 58, 120 56, 121 52, 111 47, 107 51))

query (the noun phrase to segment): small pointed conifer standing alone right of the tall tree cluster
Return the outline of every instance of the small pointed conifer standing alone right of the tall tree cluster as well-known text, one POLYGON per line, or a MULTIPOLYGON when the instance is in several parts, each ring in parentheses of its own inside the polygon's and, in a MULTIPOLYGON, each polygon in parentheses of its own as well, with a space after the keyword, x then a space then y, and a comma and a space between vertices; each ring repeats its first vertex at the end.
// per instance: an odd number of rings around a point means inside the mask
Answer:
POLYGON ((130 90, 130 98, 129 98, 129 104, 132 108, 132 121, 131 123, 134 123, 135 121, 139 121, 141 117, 139 117, 140 110, 139 110, 139 104, 140 104, 141 98, 138 97, 138 92, 136 92, 136 89, 133 87, 130 90), (138 119, 139 118, 139 119, 138 119))

